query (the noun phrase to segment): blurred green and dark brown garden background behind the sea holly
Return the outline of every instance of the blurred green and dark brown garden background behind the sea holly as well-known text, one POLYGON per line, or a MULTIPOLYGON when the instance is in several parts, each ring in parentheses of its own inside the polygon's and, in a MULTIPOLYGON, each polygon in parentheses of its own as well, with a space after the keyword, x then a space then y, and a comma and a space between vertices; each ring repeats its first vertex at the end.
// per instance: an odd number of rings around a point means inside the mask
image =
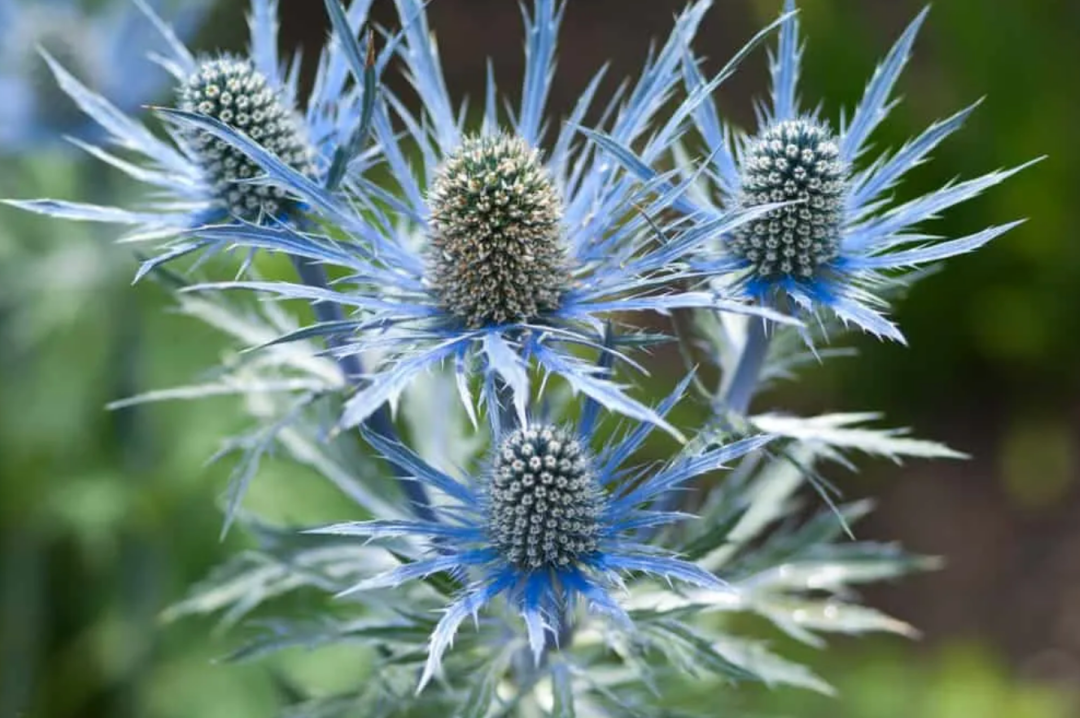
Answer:
MULTIPOLYGON (((195 46, 240 49, 244 4, 218 2, 195 46)), ((282 0, 286 46, 320 46, 321 4, 282 0)), ((376 0, 376 16, 389 22, 391 4, 376 0)), ((570 0, 554 109, 565 111, 606 60, 609 78, 633 73, 681 4, 570 0)), ((718 68, 779 4, 718 0, 699 51, 718 68)), ((835 118, 920 3, 802 4, 804 99, 828 98, 835 118)), ((483 96, 488 55, 512 86, 522 70, 515 2, 435 0, 430 12, 459 97, 483 96)), ((740 689, 730 715, 1080 715, 1080 100, 1069 90, 1078 36, 1074 2, 933 8, 901 83, 905 101, 878 147, 896 147, 987 95, 900 194, 1049 154, 933 229, 959 235, 1030 221, 915 289, 897 312, 909 348, 846 338, 860 358, 814 368, 761 405, 879 409, 891 424, 972 453, 963 463, 868 464, 858 476, 833 476, 849 496, 880 499, 861 538, 901 540, 946 557, 947 567, 868 593, 920 627, 920 641, 839 640, 800 656, 837 685, 839 701, 740 689)), ((721 107, 747 126, 765 87, 759 54, 726 85, 721 107)), ((0 152, 0 195, 127 191, 59 146, 0 152)), ((284 697, 275 679, 283 673, 315 692, 361 680, 363 655, 346 649, 216 665, 235 633, 159 620, 245 545, 235 532, 217 538, 215 502, 230 466, 204 465, 241 419, 228 401, 105 411, 111 399, 197 376, 222 348, 207 329, 168 314, 153 284, 127 286, 134 261, 109 239, 0 208, 0 718, 271 716, 284 697)), ((293 519, 339 505, 302 479, 271 463, 249 505, 293 519)))

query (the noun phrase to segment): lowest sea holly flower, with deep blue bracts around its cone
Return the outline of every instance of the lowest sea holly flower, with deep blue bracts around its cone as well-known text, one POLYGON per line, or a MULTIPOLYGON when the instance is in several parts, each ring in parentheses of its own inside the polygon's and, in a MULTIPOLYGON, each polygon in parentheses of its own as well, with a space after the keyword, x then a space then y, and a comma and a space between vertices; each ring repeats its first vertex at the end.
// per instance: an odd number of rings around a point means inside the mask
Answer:
MULTIPOLYGON (((660 410, 669 410, 680 391, 660 410)), ((528 423, 497 436, 486 469, 464 482, 399 443, 368 435, 377 450, 448 501, 429 521, 354 521, 313 532, 429 543, 427 557, 363 581, 347 594, 396 587, 435 573, 462 581, 465 587, 431 637, 421 687, 437 672, 462 621, 476 618, 499 596, 524 620, 539 661, 549 644, 545 634, 554 644, 564 627, 561 617, 572 613, 579 600, 617 627, 630 627, 630 617, 612 595, 622 573, 723 588, 723 582, 697 565, 637 543, 635 533, 685 518, 647 509, 659 496, 759 449, 771 437, 744 438, 697 456, 683 455, 656 471, 635 471, 622 464, 649 435, 649 424, 634 426, 595 452, 590 448, 592 431, 588 420, 578 429, 528 423)))

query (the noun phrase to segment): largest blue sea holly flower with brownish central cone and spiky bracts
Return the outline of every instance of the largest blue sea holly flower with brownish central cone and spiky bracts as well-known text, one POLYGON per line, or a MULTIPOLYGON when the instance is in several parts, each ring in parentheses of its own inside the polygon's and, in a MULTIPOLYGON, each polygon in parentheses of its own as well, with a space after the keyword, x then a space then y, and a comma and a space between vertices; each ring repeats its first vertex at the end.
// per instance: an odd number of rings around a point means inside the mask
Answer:
MULTIPOLYGON (((607 130, 613 136, 642 140, 649 148, 665 146, 680 118, 649 133, 677 83, 686 43, 708 4, 696 2, 678 17, 669 41, 611 112, 607 130)), ((306 329, 335 335, 339 351, 370 351, 383 358, 348 401, 343 425, 365 421, 392 403, 413 378, 444 362, 455 364, 462 393, 469 391, 468 372, 478 364, 487 374, 488 401, 494 401, 498 379, 512 390, 524 417, 530 394, 526 356, 609 409, 662 422, 607 376, 610 360, 620 351, 618 340, 605 331, 607 315, 707 307, 785 321, 769 309, 728 301, 707 287, 699 290, 701 275, 690 267, 693 253, 715 232, 734 231, 766 208, 723 215, 707 227, 658 236, 651 217, 667 206, 671 194, 635 206, 636 182, 581 141, 579 124, 593 104, 599 76, 550 149, 543 149, 562 3, 537 0, 526 17, 518 110, 500 117, 492 80, 483 122, 475 128, 462 126, 459 118, 464 113, 455 110, 446 91, 423 3, 399 0, 397 6, 404 25, 401 53, 422 113, 414 116, 387 95, 389 103, 375 110, 373 128, 399 191, 392 194, 361 177, 347 205, 307 187, 294 173, 291 189, 321 215, 323 226, 335 227, 334 236, 251 227, 212 228, 200 235, 342 268, 345 279, 334 290, 285 283, 224 286, 356 312, 349 322, 306 329), (351 241, 335 239, 342 234, 351 241), (583 361, 571 348, 606 353, 606 366, 583 361)), ((463 399, 472 404, 471 397, 463 399)), ((670 424, 662 425, 674 432, 670 424)))

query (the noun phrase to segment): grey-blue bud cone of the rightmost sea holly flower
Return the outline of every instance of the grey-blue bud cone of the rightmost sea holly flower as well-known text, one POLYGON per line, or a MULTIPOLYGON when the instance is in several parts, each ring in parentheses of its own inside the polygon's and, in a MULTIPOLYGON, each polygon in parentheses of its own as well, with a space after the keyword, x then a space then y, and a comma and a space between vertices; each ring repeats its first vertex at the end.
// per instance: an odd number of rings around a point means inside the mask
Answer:
POLYGON ((758 276, 809 279, 839 252, 846 167, 828 130, 779 122, 752 139, 742 162, 743 205, 793 202, 746 225, 730 241, 758 276))

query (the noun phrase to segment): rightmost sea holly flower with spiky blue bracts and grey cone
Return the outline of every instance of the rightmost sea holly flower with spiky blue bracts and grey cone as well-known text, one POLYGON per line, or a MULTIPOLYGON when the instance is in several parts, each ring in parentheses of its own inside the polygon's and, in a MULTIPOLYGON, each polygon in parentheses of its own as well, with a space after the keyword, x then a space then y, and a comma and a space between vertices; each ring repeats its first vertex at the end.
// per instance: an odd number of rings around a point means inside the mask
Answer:
MULTIPOLYGON (((802 48, 794 0, 786 0, 784 10, 779 49, 770 56, 771 103, 759 112, 760 126, 751 137, 721 123, 701 92, 707 83, 697 64, 692 59, 685 64, 689 97, 680 111, 693 116, 708 157, 706 172, 687 171, 687 181, 697 181, 699 174, 713 181, 704 192, 687 193, 674 204, 708 221, 717 213, 786 203, 735 231, 716 232, 712 252, 699 269, 761 306, 808 313, 828 310, 846 324, 903 341, 900 329, 881 313, 887 306, 882 286, 902 281, 904 270, 973 252, 1018 222, 947 242, 935 242, 918 227, 1027 165, 948 185, 890 207, 888 192, 905 173, 926 162, 974 109, 931 125, 892 154, 860 162, 874 130, 895 104, 893 86, 926 11, 877 68, 850 121, 841 119, 834 131, 818 112, 800 109, 796 83, 802 48)), ((625 144, 597 139, 640 178, 660 180, 625 144)))

